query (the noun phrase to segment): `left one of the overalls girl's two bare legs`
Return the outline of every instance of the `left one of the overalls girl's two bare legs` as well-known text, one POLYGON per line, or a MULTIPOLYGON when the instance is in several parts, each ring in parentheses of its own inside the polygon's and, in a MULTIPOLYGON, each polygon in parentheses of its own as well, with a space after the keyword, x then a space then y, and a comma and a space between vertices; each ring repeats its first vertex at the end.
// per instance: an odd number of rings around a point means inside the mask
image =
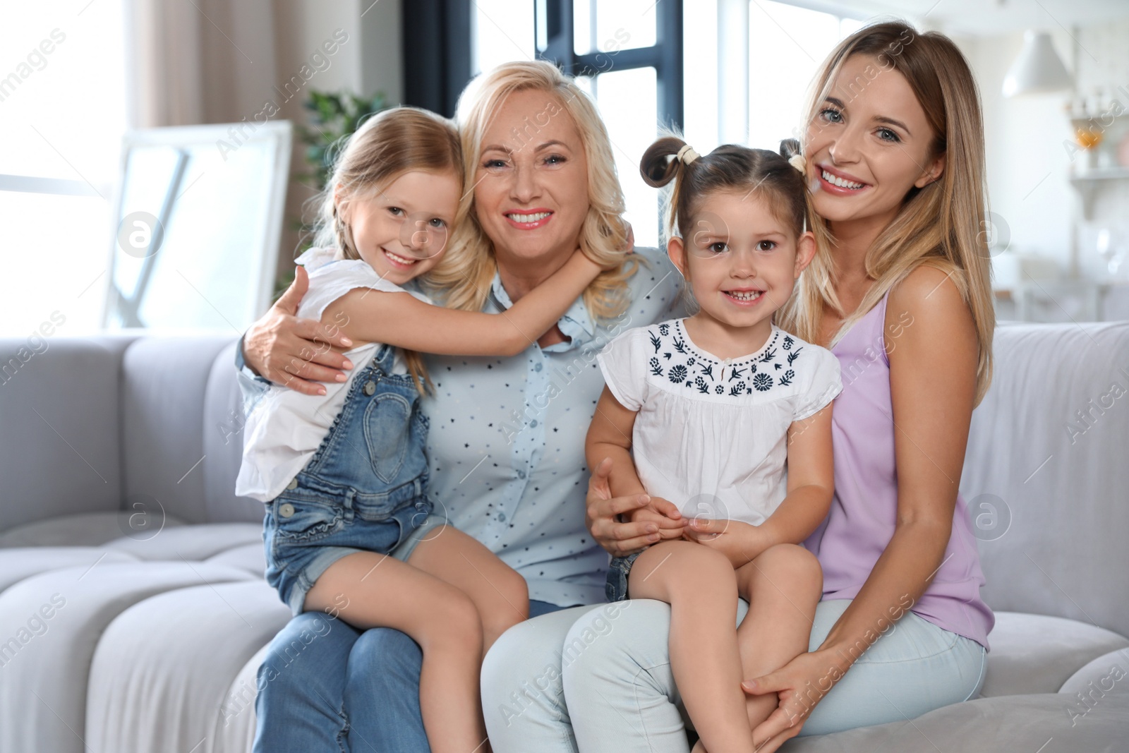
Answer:
MULTIPOLYGON (((414 552, 412 552, 414 554, 414 552)), ((482 625, 456 586, 375 552, 334 562, 306 595, 307 611, 334 612, 357 628, 395 628, 423 650, 420 711, 434 753, 481 753, 482 625)))

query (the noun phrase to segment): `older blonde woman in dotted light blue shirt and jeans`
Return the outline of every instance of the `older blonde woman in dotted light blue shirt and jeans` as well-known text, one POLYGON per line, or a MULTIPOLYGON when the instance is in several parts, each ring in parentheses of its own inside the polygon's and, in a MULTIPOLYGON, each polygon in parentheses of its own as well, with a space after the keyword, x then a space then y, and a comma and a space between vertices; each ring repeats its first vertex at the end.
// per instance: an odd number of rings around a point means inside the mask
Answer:
MULTIPOLYGON (((623 329, 672 316, 681 279, 655 249, 625 257, 611 143, 571 80, 549 63, 509 63, 472 87, 458 117, 465 219, 428 292, 450 307, 499 312, 580 244, 597 261, 624 260, 522 354, 427 359, 436 511, 525 577, 537 615, 603 601, 607 554, 584 518, 583 438, 603 388, 595 356, 623 329)), ((252 326, 243 352, 268 379, 313 392, 350 365, 324 344, 342 345, 338 336, 292 316, 303 292, 296 283, 252 326)), ((242 383, 263 385, 246 369, 242 383)), ((419 673, 420 650, 404 633, 301 614, 260 668, 255 750, 427 751, 419 673)))

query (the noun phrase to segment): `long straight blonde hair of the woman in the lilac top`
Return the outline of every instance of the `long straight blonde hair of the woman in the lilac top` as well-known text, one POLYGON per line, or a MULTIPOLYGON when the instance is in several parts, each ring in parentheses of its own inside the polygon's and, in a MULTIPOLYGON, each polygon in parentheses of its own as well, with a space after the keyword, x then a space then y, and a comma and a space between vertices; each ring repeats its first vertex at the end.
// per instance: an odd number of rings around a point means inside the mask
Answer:
MULTIPOLYGON (((843 63, 855 54, 876 56, 884 70, 896 70, 909 82, 935 134, 930 157, 945 155, 940 178, 907 194, 896 217, 867 251, 866 273, 875 282, 863 301, 831 338, 833 347, 855 322, 921 264, 945 272, 972 312, 979 340, 977 388, 980 404, 992 375, 992 305, 987 239, 983 124, 980 98, 968 61, 956 45, 936 32, 917 34, 901 21, 865 26, 831 52, 812 88, 805 122, 811 124, 830 94, 843 63)), ((828 229, 826 220, 820 220, 828 229)), ((778 312, 777 323, 797 336, 816 341, 823 307, 840 316, 830 245, 820 242, 796 292, 778 312)), ((826 236, 824 236, 826 237, 826 236)))

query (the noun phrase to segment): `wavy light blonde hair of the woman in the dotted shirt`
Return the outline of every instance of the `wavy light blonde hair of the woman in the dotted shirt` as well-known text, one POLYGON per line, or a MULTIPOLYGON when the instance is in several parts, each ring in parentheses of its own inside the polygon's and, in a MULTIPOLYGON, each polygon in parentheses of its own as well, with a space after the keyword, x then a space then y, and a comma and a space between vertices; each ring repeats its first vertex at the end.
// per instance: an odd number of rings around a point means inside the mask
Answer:
MULTIPOLYGON (((642 261, 624 252, 628 224, 623 220, 623 191, 615 176, 612 145, 595 105, 571 77, 544 61, 502 63, 473 81, 458 99, 463 164, 467 182, 474 180, 482 155, 482 139, 506 98, 515 91, 544 91, 559 100, 580 134, 588 163, 588 214, 580 226, 580 248, 602 272, 584 291, 584 304, 596 319, 610 319, 627 310, 628 279, 642 261)), ((460 205, 450 248, 428 275, 429 292, 443 297, 449 308, 482 310, 498 269, 493 243, 479 224, 474 191, 467 190, 460 205)))

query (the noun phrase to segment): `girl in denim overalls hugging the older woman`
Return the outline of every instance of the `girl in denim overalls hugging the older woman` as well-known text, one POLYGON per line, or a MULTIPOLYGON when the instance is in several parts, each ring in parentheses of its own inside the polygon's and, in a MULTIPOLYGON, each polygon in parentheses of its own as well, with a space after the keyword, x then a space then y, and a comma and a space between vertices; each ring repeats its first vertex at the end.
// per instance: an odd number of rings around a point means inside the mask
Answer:
POLYGON ((318 246, 297 260, 309 275, 298 316, 339 330, 364 366, 317 395, 272 385, 250 408, 236 493, 265 505, 266 580, 291 611, 411 636, 431 750, 484 750, 482 656, 526 619, 528 592, 432 510, 419 409, 430 380, 418 353, 517 354, 602 269, 578 249, 502 315, 434 306, 401 287, 440 262, 463 195, 458 134, 422 110, 367 121, 329 186, 318 246))

